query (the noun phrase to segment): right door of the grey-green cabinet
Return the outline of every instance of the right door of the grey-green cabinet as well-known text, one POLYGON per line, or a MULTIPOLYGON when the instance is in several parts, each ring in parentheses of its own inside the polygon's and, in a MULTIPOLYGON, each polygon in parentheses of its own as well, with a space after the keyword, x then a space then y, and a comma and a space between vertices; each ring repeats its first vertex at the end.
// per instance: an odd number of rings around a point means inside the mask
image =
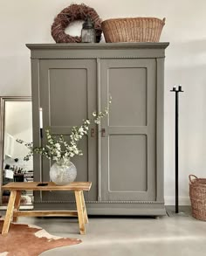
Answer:
POLYGON ((156 78, 154 59, 101 61, 101 200, 155 200, 156 78), (105 129, 105 134, 102 129, 105 129))

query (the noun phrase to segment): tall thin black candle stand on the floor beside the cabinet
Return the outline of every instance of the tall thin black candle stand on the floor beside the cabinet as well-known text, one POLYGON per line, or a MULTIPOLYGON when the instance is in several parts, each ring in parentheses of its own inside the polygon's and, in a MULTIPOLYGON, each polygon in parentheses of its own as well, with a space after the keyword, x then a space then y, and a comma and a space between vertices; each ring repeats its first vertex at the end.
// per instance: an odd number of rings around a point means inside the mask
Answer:
POLYGON ((183 93, 182 86, 174 86, 170 92, 175 93, 175 213, 179 213, 179 93, 183 93))

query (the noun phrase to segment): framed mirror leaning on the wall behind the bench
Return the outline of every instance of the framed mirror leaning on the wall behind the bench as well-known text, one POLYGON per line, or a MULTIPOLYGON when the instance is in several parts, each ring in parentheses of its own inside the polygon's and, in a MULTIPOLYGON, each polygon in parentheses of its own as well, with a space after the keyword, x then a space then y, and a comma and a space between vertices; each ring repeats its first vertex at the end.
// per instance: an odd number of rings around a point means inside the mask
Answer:
MULTIPOLYGON (((30 182, 33 180, 33 160, 24 161, 29 149, 16 140, 32 142, 31 97, 0 97, 0 206, 6 206, 10 192, 2 186, 10 182, 30 182)), ((33 195, 24 191, 21 205, 32 205, 33 195)), ((27 207, 28 208, 28 207, 27 207)))

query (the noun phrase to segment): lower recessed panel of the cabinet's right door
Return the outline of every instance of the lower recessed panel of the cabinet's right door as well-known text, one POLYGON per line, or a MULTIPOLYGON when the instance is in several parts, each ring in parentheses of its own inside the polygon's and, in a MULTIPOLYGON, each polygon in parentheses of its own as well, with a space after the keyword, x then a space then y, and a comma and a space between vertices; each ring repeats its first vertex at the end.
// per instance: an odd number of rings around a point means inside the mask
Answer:
POLYGON ((109 191, 147 191, 147 136, 110 135, 109 150, 109 191))

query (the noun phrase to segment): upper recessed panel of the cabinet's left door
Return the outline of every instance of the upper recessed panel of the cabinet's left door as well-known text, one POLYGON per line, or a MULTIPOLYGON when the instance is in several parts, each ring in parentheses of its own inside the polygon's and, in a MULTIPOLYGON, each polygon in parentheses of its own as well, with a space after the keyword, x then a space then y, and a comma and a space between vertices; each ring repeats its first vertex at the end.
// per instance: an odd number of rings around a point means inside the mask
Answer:
POLYGON ((51 126, 80 125, 87 116, 87 69, 51 68, 49 76, 51 126))

